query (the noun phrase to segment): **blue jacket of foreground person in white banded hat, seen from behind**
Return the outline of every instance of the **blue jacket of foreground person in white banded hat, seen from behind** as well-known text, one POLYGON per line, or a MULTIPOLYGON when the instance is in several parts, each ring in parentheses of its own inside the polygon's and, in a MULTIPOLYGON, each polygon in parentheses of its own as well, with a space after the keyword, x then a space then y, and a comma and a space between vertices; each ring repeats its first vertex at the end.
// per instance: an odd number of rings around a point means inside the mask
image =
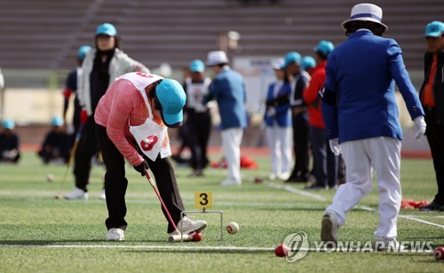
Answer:
POLYGON ((402 139, 394 83, 410 117, 424 115, 410 82, 400 46, 392 39, 358 31, 329 54, 325 92, 336 92, 337 103, 322 101, 329 139, 339 142, 377 136, 402 139))

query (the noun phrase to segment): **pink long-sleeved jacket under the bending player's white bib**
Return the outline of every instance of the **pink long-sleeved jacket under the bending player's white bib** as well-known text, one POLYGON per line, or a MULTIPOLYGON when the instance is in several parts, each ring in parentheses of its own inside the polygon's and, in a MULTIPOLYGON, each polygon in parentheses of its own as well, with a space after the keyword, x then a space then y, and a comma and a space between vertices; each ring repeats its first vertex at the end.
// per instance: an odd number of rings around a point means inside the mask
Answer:
MULTIPOLYGON (((138 126, 147 121, 148 116, 147 105, 140 91, 130 81, 121 79, 114 82, 100 98, 94 120, 107 128, 109 139, 133 166, 137 166, 143 162, 143 158, 132 145, 133 136, 128 120, 131 126, 138 126)), ((155 116, 154 121, 162 124, 161 117, 155 116)))

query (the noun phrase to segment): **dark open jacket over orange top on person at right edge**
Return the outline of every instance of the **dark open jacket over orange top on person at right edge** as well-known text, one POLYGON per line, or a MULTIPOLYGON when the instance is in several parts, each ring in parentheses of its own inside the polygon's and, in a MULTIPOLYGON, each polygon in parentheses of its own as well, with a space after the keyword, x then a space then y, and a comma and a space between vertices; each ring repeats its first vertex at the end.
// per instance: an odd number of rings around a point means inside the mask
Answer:
MULTIPOLYGON (((424 54, 424 82, 419 91, 421 100, 424 96, 425 84, 429 79, 430 68, 433 63, 433 54, 427 52, 424 54)), ((438 53, 438 62, 436 64, 436 75, 433 83, 433 98, 435 100, 436 120, 439 124, 444 125, 444 51, 438 53)), ((427 112, 426 112, 427 114, 427 112)))

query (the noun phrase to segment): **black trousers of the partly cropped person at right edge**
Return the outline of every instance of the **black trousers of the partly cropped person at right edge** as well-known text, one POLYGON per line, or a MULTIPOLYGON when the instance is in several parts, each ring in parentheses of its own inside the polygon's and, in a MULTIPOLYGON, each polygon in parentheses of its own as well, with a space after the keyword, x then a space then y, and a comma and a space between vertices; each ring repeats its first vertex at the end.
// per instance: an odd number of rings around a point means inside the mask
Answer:
POLYGON ((427 129, 425 136, 432 152, 433 168, 435 169, 438 193, 433 201, 444 205, 444 124, 438 124, 434 109, 425 108, 425 123, 427 129))

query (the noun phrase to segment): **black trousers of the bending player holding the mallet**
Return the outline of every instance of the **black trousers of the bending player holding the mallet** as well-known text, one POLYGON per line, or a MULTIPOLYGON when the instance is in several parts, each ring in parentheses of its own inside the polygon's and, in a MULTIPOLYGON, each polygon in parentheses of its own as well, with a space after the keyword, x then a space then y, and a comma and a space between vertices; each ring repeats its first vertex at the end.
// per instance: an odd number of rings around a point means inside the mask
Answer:
MULTIPOLYGON (((103 161, 107 166, 105 193, 107 194, 108 217, 105 224, 108 230, 111 228, 123 228, 124 230, 128 224, 124 219, 126 215, 125 193, 128 186, 128 180, 125 177, 125 160, 122 153, 119 152, 115 144, 107 136, 107 129, 105 127, 96 124, 95 131, 103 161)), ((177 224, 180 221, 180 213, 184 211, 185 208, 178 191, 176 174, 174 173, 170 160, 168 160, 168 158, 161 159, 157 157, 157 159, 153 161, 149 160, 146 156, 143 157, 147 160, 149 168, 155 176, 157 189, 170 212, 172 220, 177 224)), ((140 179, 146 180, 145 177, 141 177, 140 179)), ((148 182, 147 187, 149 187, 148 182)), ((163 214, 167 221, 169 221, 165 211, 163 211, 163 214)), ((169 222, 167 232, 170 233, 173 230, 169 222)))

